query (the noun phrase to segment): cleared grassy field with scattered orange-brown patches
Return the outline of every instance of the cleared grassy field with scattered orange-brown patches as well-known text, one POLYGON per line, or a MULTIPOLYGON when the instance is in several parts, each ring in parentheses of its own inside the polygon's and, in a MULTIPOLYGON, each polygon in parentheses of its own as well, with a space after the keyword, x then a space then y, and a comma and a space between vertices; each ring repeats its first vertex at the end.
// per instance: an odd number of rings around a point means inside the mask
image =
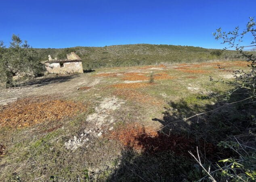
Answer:
POLYGON ((237 69, 247 62, 113 67, 2 86, 0 181, 198 180, 205 174, 188 151, 198 147, 206 163, 235 156, 217 144, 243 133, 250 116, 227 106, 185 119, 232 102, 214 95, 233 88, 237 69))

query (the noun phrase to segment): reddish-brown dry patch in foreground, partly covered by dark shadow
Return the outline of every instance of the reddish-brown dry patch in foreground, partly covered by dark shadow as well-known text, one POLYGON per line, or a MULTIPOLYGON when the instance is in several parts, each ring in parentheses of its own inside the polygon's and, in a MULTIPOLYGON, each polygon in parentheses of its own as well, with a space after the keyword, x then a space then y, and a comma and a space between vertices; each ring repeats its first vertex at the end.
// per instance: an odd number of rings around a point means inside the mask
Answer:
MULTIPOLYGON (((183 135, 165 135, 153 128, 145 128, 139 123, 131 123, 115 129, 109 138, 119 140, 126 147, 148 153, 174 151, 178 155, 189 155, 188 151, 195 152, 198 146, 198 143, 192 138, 183 135)), ((212 143, 204 143, 204 141, 200 142, 199 148, 206 151, 209 156, 218 151, 212 143)))

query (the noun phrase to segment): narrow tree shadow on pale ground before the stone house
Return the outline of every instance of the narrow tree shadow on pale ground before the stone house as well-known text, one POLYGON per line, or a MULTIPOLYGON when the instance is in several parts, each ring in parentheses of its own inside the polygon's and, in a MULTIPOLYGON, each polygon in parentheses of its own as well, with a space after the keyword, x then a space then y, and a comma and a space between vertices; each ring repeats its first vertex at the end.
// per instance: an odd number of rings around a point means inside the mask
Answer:
POLYGON ((38 78, 38 79, 33 79, 29 80, 26 82, 22 82, 17 84, 16 86, 45 86, 48 84, 57 84, 57 83, 63 83, 70 81, 73 78, 77 78, 78 75, 68 75, 68 76, 55 76, 55 77, 49 77, 49 78, 38 78))

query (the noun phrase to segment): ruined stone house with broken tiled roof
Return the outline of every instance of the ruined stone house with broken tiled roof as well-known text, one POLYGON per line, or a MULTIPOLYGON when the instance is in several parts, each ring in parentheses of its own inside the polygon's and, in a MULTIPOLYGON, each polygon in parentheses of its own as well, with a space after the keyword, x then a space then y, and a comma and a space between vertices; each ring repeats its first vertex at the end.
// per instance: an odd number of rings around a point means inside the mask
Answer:
POLYGON ((47 72, 55 74, 83 73, 82 59, 74 52, 67 54, 67 59, 52 59, 48 55, 48 61, 44 61, 47 72))

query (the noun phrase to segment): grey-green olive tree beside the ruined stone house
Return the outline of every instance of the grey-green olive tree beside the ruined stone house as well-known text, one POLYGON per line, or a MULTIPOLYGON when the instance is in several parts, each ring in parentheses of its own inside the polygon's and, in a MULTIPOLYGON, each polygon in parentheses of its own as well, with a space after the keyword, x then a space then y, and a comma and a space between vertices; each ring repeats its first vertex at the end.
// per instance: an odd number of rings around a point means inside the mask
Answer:
POLYGON ((6 88, 13 86, 13 76, 36 76, 44 70, 38 53, 32 49, 27 41, 13 35, 10 46, 6 48, 0 43, 0 76, 6 82, 6 88))

